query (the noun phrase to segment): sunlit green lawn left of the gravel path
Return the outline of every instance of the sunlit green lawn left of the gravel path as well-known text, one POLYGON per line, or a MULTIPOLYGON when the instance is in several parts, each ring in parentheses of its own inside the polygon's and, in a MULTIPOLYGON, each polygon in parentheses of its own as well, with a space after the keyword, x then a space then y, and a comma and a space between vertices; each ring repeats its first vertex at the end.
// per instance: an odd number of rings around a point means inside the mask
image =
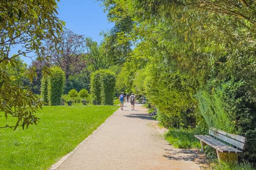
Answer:
MULTIPOLYGON (((118 106, 44 106, 38 125, 0 129, 0 170, 46 170, 92 134, 118 106)), ((9 119, 10 118, 10 119, 9 119)), ((0 126, 14 124, 1 117, 0 126)))

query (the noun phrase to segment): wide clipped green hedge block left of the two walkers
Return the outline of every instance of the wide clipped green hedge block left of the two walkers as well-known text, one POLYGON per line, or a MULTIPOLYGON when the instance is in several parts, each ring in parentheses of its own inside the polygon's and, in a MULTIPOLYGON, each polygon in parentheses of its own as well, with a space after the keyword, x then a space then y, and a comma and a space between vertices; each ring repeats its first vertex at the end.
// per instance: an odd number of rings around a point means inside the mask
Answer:
POLYGON ((91 95, 98 104, 112 105, 115 93, 115 74, 109 70, 98 70, 91 77, 91 95))

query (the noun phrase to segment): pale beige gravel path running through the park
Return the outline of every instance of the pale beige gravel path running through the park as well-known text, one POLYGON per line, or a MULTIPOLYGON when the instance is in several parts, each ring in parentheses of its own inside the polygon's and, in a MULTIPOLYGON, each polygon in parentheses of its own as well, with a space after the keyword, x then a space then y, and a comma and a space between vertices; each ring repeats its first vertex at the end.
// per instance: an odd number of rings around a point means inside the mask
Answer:
POLYGON ((175 149, 141 104, 118 109, 91 136, 50 170, 200 170, 197 151, 175 149))

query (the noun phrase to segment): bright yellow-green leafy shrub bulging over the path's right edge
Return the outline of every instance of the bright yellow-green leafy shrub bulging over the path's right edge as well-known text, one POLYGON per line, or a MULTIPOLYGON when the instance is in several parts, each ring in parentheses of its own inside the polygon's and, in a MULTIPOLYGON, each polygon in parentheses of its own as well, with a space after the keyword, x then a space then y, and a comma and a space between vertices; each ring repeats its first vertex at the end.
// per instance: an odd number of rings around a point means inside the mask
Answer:
POLYGON ((146 97, 158 107, 158 120, 167 127, 195 127, 197 101, 188 77, 155 66, 145 80, 146 97))

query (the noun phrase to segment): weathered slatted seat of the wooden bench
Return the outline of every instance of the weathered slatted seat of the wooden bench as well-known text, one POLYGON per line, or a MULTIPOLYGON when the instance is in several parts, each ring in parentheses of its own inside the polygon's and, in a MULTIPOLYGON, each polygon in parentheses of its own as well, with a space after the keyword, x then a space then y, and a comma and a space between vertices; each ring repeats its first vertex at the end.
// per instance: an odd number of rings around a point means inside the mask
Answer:
POLYGON ((217 149, 221 153, 242 153, 241 151, 237 150, 236 148, 233 148, 232 146, 229 146, 212 136, 208 135, 195 135, 199 140, 203 141, 207 145, 217 149))

